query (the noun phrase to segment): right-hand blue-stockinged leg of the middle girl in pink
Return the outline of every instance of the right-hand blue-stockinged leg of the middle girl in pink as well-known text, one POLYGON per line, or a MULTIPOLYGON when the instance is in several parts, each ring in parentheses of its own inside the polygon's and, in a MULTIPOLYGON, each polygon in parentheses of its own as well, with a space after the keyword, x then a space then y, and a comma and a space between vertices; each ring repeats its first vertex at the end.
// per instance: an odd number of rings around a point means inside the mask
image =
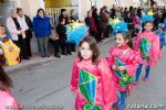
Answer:
POLYGON ((126 92, 120 91, 120 105, 118 105, 118 110, 124 110, 124 108, 125 108, 125 101, 126 101, 126 92))

